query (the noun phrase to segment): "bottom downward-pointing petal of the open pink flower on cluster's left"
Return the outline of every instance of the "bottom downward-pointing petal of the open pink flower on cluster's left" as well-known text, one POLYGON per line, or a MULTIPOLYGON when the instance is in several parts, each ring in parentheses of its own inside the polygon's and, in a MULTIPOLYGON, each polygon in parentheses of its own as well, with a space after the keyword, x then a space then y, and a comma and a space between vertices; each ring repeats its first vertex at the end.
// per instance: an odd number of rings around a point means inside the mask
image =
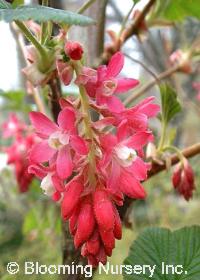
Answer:
POLYGON ((61 179, 66 179, 72 174, 73 163, 69 148, 63 147, 59 150, 56 169, 57 174, 61 179))

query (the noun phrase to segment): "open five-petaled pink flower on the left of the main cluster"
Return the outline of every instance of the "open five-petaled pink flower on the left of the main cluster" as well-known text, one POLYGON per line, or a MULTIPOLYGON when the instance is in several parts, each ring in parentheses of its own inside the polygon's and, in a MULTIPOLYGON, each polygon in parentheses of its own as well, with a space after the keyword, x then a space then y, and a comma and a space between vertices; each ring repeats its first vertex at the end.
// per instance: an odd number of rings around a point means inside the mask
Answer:
POLYGON ((58 115, 58 124, 37 112, 31 112, 30 119, 42 139, 30 152, 31 162, 55 161, 58 176, 68 178, 74 167, 72 152, 80 155, 88 152, 85 141, 77 134, 75 112, 70 108, 63 109, 58 115))

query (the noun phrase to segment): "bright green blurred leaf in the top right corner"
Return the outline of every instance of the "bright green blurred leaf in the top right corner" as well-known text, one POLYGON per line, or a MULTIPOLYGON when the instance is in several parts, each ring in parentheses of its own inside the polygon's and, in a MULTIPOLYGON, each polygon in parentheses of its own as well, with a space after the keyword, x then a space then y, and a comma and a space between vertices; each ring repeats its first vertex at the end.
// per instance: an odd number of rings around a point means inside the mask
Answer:
POLYGON ((186 17, 200 19, 200 3, 199 0, 159 0, 154 16, 172 21, 186 17))

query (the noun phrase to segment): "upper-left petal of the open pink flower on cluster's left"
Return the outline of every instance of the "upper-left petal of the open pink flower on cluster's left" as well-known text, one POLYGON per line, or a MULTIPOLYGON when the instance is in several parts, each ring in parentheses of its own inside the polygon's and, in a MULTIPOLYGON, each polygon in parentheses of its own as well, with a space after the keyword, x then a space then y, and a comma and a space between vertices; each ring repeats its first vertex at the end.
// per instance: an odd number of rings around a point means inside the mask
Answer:
POLYGON ((32 125, 41 137, 43 136, 45 138, 58 129, 57 125, 42 113, 31 112, 29 116, 32 125))

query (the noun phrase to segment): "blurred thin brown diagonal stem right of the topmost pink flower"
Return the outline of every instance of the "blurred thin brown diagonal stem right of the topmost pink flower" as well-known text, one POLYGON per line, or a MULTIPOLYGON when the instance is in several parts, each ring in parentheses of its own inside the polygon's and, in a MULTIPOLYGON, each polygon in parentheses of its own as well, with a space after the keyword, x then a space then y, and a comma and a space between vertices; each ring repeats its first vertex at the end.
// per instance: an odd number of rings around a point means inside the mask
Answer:
POLYGON ((124 101, 124 105, 130 105, 133 101, 135 101, 136 99, 138 99, 140 96, 142 96, 146 91, 150 90, 154 85, 158 84, 158 82, 161 82, 163 79, 171 76, 173 73, 177 72, 180 68, 180 65, 177 64, 175 66, 172 66, 171 68, 169 68, 168 70, 166 70, 165 72, 162 72, 160 75, 157 76, 157 79, 152 80, 150 82, 148 82, 147 84, 143 85, 138 92, 134 93, 132 95, 130 95, 125 101, 124 101))

